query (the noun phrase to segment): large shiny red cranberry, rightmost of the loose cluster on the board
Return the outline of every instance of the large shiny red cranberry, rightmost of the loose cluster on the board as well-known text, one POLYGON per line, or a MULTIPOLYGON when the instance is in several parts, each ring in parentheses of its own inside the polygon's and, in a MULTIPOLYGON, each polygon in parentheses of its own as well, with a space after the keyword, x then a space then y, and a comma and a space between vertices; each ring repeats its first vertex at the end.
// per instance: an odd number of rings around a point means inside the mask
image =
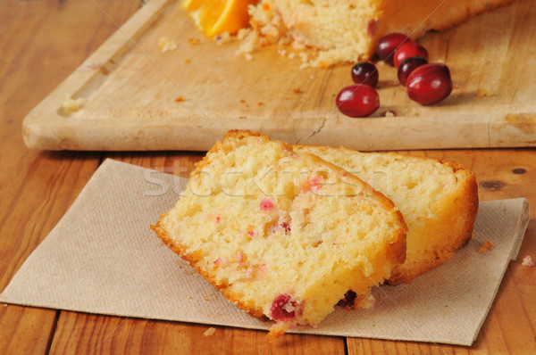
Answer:
POLYGON ((438 103, 452 91, 450 71, 445 64, 421 65, 409 74, 406 89, 409 98, 417 103, 438 103))

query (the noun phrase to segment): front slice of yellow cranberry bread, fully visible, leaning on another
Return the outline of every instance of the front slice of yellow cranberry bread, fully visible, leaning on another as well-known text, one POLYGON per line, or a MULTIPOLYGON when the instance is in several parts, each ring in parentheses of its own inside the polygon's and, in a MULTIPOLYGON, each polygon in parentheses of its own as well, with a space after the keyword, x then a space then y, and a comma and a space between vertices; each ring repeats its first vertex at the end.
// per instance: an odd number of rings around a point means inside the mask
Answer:
POLYGON ((406 258, 406 224, 383 194, 289 144, 230 131, 154 227, 230 301, 279 329, 316 325, 406 258))

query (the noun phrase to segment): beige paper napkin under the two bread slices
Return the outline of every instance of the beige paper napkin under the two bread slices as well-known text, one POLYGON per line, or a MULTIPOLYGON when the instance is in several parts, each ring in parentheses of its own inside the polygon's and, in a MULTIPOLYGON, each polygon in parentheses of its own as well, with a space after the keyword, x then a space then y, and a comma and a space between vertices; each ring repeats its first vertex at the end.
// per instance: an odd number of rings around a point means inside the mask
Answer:
MULTIPOLYGON (((149 225, 187 179, 105 161, 0 301, 123 317, 267 329, 205 282, 149 225)), ((410 285, 373 290, 369 310, 335 310, 296 333, 473 343, 529 221, 524 199, 482 202, 474 237, 454 259, 410 285), (479 254, 490 240, 494 247, 479 254)))

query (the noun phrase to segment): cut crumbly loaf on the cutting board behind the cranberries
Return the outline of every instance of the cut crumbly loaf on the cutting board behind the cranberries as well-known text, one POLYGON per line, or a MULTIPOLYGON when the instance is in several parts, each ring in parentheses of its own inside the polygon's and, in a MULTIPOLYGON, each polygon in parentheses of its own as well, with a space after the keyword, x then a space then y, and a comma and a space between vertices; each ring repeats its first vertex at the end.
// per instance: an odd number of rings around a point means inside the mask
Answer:
POLYGON ((293 43, 319 48, 313 66, 367 60, 381 37, 401 32, 421 37, 448 29, 512 0, 261 0, 250 7, 255 45, 293 43))

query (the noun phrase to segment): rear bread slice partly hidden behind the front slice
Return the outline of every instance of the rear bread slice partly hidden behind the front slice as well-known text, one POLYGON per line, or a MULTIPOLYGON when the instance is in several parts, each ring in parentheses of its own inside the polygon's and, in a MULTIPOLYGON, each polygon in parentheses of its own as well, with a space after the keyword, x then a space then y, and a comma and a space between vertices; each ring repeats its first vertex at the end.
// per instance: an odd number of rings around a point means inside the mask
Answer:
POLYGON ((471 170, 449 161, 360 153, 347 148, 295 145, 362 178, 391 199, 406 220, 406 262, 395 267, 389 284, 408 283, 450 259, 473 233, 478 210, 471 170))

